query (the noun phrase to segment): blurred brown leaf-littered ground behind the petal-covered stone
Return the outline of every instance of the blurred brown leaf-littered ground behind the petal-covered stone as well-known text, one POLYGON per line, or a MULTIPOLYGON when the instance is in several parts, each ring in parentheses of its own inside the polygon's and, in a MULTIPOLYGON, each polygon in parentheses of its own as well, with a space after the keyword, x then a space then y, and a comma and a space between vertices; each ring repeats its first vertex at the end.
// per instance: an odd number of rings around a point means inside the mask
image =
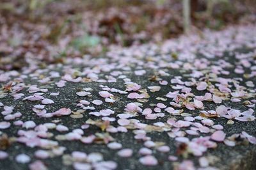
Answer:
MULTIPOLYGON (((256 21, 256 0, 189 5, 191 33, 256 21)), ((0 0, 0 69, 19 70, 26 58, 62 63, 116 46, 161 45, 184 33, 182 8, 181 0, 0 0)))

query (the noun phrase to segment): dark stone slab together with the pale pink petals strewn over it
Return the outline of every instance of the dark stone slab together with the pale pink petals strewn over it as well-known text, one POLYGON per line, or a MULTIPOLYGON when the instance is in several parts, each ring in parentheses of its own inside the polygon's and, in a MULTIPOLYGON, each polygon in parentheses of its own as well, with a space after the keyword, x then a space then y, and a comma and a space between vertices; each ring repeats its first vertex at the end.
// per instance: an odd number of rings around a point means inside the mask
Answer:
POLYGON ((0 169, 253 169, 255 34, 0 71, 0 169))

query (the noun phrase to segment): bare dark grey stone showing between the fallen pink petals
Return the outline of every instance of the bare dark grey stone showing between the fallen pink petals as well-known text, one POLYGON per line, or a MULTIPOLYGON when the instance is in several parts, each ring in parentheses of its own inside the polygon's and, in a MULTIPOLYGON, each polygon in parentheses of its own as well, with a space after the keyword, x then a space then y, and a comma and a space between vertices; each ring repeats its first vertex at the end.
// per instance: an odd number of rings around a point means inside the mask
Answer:
MULTIPOLYGON (((236 51, 243 54, 248 54, 249 52, 253 52, 253 50, 255 49, 243 48, 236 51)), ((232 51, 231 55, 229 55, 227 52, 223 54, 224 56, 221 59, 236 66, 237 60, 234 59, 235 53, 236 53, 235 50, 232 51)), ((170 57, 169 54, 166 54, 166 55, 170 57)), ((128 57, 126 56, 123 58, 128 58, 128 57)), ((200 57, 199 54, 196 54, 196 58, 202 59, 202 57, 200 57)), ((131 59, 134 59, 134 58, 131 58, 131 59)), ((138 61, 143 61, 144 63, 147 63, 148 62, 147 59, 149 58, 146 57, 146 58, 138 59, 138 61), (143 59, 145 60, 143 61, 143 59)), ((159 57, 156 57, 156 59, 159 59, 159 57)), ((211 63, 209 64, 209 66, 212 66, 216 61, 219 61, 220 58, 214 58, 214 59, 207 58, 207 60, 211 63)), ((106 61, 110 64, 118 63, 118 61, 115 62, 115 59, 111 59, 111 58, 109 58, 106 61)), ((172 61, 173 60, 170 59, 169 62, 172 62, 172 61)), ((188 61, 188 63, 193 61, 188 61)), ((100 62, 100 59, 99 59, 99 62, 100 62)), ((159 62, 159 60, 154 61, 154 63, 157 63, 157 62, 159 62)), ((173 62, 177 62, 177 60, 174 60, 173 62)), ((183 64, 184 63, 182 63, 182 65, 183 64)), ((86 66, 86 63, 82 63, 82 65, 67 63, 67 65, 72 65, 72 69, 76 69, 83 72, 83 68, 86 66)), ((180 65, 180 68, 178 69, 168 68, 168 67, 161 68, 161 70, 165 70, 167 73, 170 73, 170 75, 168 76, 159 76, 161 77, 161 79, 169 82, 167 86, 159 85, 158 81, 148 81, 148 77, 152 77, 152 75, 156 75, 156 73, 159 71, 160 68, 152 69, 152 68, 147 68, 147 66, 145 65, 141 66, 140 68, 140 66, 138 66, 138 63, 136 63, 135 61, 135 63, 129 64, 129 66, 131 66, 131 70, 125 71, 120 68, 114 69, 114 70, 116 71, 120 70, 122 72, 122 75, 126 75, 127 78, 131 79, 132 82, 136 82, 137 84, 140 84, 142 88, 147 88, 148 86, 161 86, 161 90, 154 93, 148 90, 148 95, 150 95, 150 98, 148 98, 148 102, 142 103, 143 106, 141 106, 141 108, 145 109, 147 107, 152 107, 150 106, 150 104, 157 104, 158 102, 162 102, 163 104, 170 106, 169 103, 172 102, 172 98, 167 98, 166 101, 160 101, 160 100, 156 100, 156 97, 164 97, 169 91, 174 91, 170 87, 170 79, 172 79, 175 76, 182 76, 182 81, 189 81, 189 77, 187 77, 186 75, 191 73, 191 70, 185 70, 182 67, 182 65, 180 65), (140 70, 140 69, 143 69, 143 70, 145 69, 147 73, 141 76, 135 75, 134 70, 140 70)), ((51 72, 52 70, 58 70, 58 72, 60 72, 61 75, 63 75, 65 72, 67 72, 65 71, 64 68, 62 65, 50 65, 46 67, 45 72, 42 74, 45 76, 48 76, 49 72, 51 72)), ((25 70, 26 68, 24 68, 22 74, 24 74, 25 70)), ((207 68, 204 70, 207 70, 207 68)), ((230 75, 219 75, 219 76, 227 77, 230 79, 234 79, 234 77, 240 77, 241 79, 243 79, 240 85, 243 85, 243 86, 245 86, 244 81, 252 81, 254 82, 254 84, 256 84, 256 77, 245 79, 243 77, 243 74, 239 75, 233 72, 234 67, 227 68, 227 70, 230 71, 230 75)), ((36 70, 35 70, 35 73, 36 73, 36 70)), ((105 77, 105 75, 109 75, 109 72, 99 73, 99 77, 102 79, 105 77)), ((36 75, 35 77, 39 77, 39 76, 36 75)), ((14 80, 14 79, 12 78, 11 80, 14 80)), ((70 108, 72 111, 77 111, 79 107, 77 107, 76 104, 79 102, 79 100, 88 100, 88 101, 92 101, 95 99, 104 100, 99 96, 99 91, 102 91, 102 89, 99 87, 100 84, 103 84, 104 86, 108 86, 109 88, 125 90, 124 81, 122 79, 117 79, 116 82, 78 82, 78 83, 67 82, 66 86, 63 88, 58 88, 54 84, 54 82, 59 80, 60 78, 54 78, 54 79, 51 79, 51 81, 47 82, 46 84, 41 84, 36 79, 28 78, 28 79, 24 79, 24 83, 26 84, 26 86, 29 86, 29 84, 37 84, 38 87, 40 88, 48 88, 48 91, 44 93, 44 97, 51 98, 52 100, 54 100, 54 104, 50 104, 45 107, 47 112, 54 112, 62 107, 67 107, 67 108, 70 108), (77 96, 76 92, 81 91, 81 89, 83 88, 92 88, 93 89, 92 96, 91 97, 77 96), (58 95, 57 97, 52 97, 49 95, 51 92, 60 93, 60 95, 58 95)), ((1 85, 4 85, 4 84, 6 84, 6 82, 1 83, 1 85)), ((232 88, 234 88, 234 86, 232 86, 232 88)), ((31 93, 28 93, 28 91, 26 90, 27 88, 24 88, 19 93, 24 93, 25 95, 24 97, 31 95, 31 93)), ((195 95, 204 95, 205 93, 205 91, 197 91, 195 89, 195 86, 193 86, 192 91, 195 95)), ((138 102, 138 100, 136 99, 128 99, 127 98, 128 94, 127 95, 126 94, 121 95, 119 93, 113 93, 113 94, 115 94, 116 101, 113 104, 108 104, 106 102, 103 102, 102 105, 95 107, 96 111, 99 111, 100 109, 106 109, 106 108, 112 109, 113 111, 115 111, 115 114, 113 115, 113 117, 116 118, 116 114, 120 114, 124 112, 125 105, 131 102, 138 102)), ((214 104, 213 102, 204 102, 203 110, 205 111, 215 110, 218 105, 226 105, 227 107, 232 107, 232 109, 239 109, 241 111, 246 111, 248 110, 248 107, 246 107, 243 104, 243 102, 245 100, 252 100, 253 98, 255 98, 255 96, 248 99, 242 99, 241 102, 238 102, 238 103, 230 102, 230 100, 223 100, 221 104, 214 104)), ((92 120, 99 119, 96 116, 89 115, 88 113, 90 111, 83 112, 83 118, 77 118, 77 119, 71 118, 70 115, 52 117, 52 118, 42 118, 40 116, 36 116, 36 114, 32 111, 33 105, 40 104, 41 101, 31 102, 28 100, 23 101, 22 99, 13 100, 13 97, 10 94, 8 94, 4 98, 0 98, 0 101, 4 105, 12 105, 15 108, 14 112, 17 112, 17 111, 21 112, 22 116, 19 118, 19 120, 22 120, 22 121, 33 120, 35 121, 36 125, 58 121, 58 123, 56 124, 62 124, 67 126, 70 129, 69 132, 75 128, 80 128, 81 125, 83 125, 88 119, 92 119, 92 120)), ((194 117, 198 116, 199 112, 202 111, 200 109, 196 109, 195 111, 189 111, 186 108, 182 108, 182 109, 184 109, 184 112, 187 112, 194 117)), ((255 110, 255 107, 253 107, 252 109, 255 110)), ((3 111, 3 107, 0 107, 0 111, 3 111)), ((253 115, 255 115, 255 113, 253 113, 253 115)), ((156 120, 145 120, 145 117, 142 116, 141 114, 139 114, 134 118, 136 118, 137 120, 140 120, 141 123, 147 123, 148 125, 152 125, 153 123, 159 122, 159 121, 166 122, 169 118, 176 118, 177 120, 183 120, 184 116, 173 116, 172 114, 168 114, 165 112, 165 116, 163 118, 157 118, 156 120)), ((219 117, 219 118, 210 118, 210 119, 214 121, 215 124, 223 125, 224 127, 223 131, 227 134, 226 137, 232 134, 239 134, 243 131, 247 132, 250 135, 256 136, 255 121, 241 122, 241 121, 235 120, 234 124, 228 125, 227 124, 228 120, 226 118, 219 117)), ((4 121, 4 118, 2 115, 0 115, 0 121, 4 121)), ((118 126, 116 121, 111 122, 111 125, 113 125, 114 127, 118 126)), ((17 132, 19 129, 20 127, 12 125, 10 128, 0 130, 0 132, 7 134, 8 137, 17 137, 18 136, 17 132)), ((22 129, 26 130, 25 128, 22 128, 22 129)), ((186 129, 188 128, 181 128, 180 130, 183 131, 186 129)), ((52 139, 54 141, 58 141, 55 138, 56 135, 66 134, 66 132, 58 132, 56 130, 49 130, 49 132, 53 134, 52 137, 50 137, 49 139, 52 139)), ((90 128, 84 130, 84 135, 88 136, 91 134, 95 134, 96 132, 101 132, 100 128, 91 125, 90 128)), ((207 133, 207 134, 200 133, 200 135, 202 136, 211 135, 211 134, 212 133, 207 133)), ((127 133, 120 133, 120 132, 110 133, 110 135, 115 139, 116 142, 122 143, 122 146, 123 146, 122 148, 131 148, 134 151, 132 157, 129 157, 129 158, 118 157, 117 151, 110 150, 108 147, 106 147, 106 144, 83 144, 80 141, 58 141, 58 145, 64 146, 67 149, 65 150, 64 155, 70 154, 72 153, 72 151, 84 151, 85 153, 100 152, 104 156, 104 160, 113 160, 118 164, 118 167, 116 169, 175 169, 175 167, 177 168, 177 164, 179 164, 183 160, 193 160, 195 167, 196 168, 200 167, 200 165, 198 164, 198 157, 195 157, 192 154, 189 154, 187 158, 182 157, 182 155, 178 155, 179 159, 174 162, 168 160, 168 155, 177 156, 178 145, 175 139, 168 136, 167 132, 148 132, 147 133, 147 136, 151 137, 152 141, 163 142, 165 143, 165 145, 170 147, 170 151, 168 151, 167 153, 161 153, 157 151, 156 148, 152 149, 153 155, 157 158, 159 163, 157 166, 143 166, 142 164, 140 164, 138 160, 141 157, 141 155, 138 153, 138 150, 141 147, 143 147, 143 141, 134 139, 134 134, 132 133, 132 130, 129 130, 127 133)), ((192 136, 187 134, 186 137, 188 137, 189 139, 193 139, 198 136, 192 136)), ((243 139, 241 140, 243 141, 243 139)), ((255 145, 246 143, 246 142, 244 142, 243 144, 237 143, 237 145, 234 147, 227 146, 224 143, 217 143, 217 144, 218 146, 216 148, 214 149, 209 148, 204 153, 205 157, 214 160, 212 164, 210 164, 211 167, 216 167, 218 169, 255 169, 255 166, 256 166, 255 165, 256 164, 255 163, 256 162, 255 145)), ((31 162, 33 162, 35 160, 38 160, 34 156, 34 152, 36 150, 38 150, 38 147, 30 148, 22 143, 17 143, 17 142, 12 143, 10 147, 8 147, 5 150, 7 153, 9 153, 9 157, 0 161, 0 169, 4 169, 4 170, 5 169, 28 169, 28 164, 17 163, 15 161, 15 157, 19 153, 26 153, 27 155, 29 155, 29 157, 31 157, 31 162)), ((64 165, 65 161, 63 162, 63 155, 52 157, 52 158, 46 158, 45 160, 42 160, 42 161, 44 162, 45 166, 48 167, 49 169, 73 169, 72 165, 64 165)))

